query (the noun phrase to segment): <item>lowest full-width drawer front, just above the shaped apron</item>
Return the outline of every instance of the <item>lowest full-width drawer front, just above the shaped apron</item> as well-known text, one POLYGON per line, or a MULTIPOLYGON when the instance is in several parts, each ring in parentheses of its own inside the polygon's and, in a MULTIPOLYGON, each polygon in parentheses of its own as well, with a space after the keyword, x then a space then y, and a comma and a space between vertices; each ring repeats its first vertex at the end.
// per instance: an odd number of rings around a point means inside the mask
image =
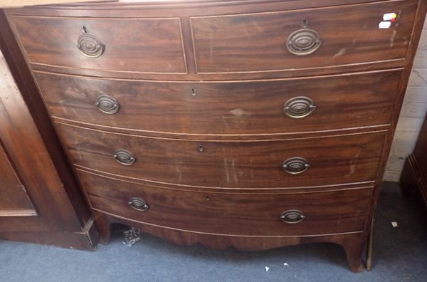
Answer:
POLYGON ((372 191, 361 188, 297 194, 189 192, 124 182, 82 170, 78 174, 94 209, 174 229, 248 236, 362 231, 372 191))

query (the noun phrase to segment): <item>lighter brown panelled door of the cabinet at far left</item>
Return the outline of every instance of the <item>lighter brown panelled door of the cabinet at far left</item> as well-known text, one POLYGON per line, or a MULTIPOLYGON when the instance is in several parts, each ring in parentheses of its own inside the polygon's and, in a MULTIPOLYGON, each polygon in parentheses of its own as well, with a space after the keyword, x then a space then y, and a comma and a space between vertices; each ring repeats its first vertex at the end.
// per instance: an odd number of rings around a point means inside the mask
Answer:
POLYGON ((2 53, 0 77, 0 233, 79 229, 68 220, 70 201, 2 53))

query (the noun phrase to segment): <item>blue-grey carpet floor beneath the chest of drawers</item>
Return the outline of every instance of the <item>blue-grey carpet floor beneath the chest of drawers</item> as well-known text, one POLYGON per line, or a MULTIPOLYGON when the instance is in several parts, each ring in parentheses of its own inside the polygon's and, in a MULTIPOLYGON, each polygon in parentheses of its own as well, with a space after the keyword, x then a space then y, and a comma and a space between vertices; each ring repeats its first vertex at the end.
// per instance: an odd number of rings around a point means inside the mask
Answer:
POLYGON ((370 272, 350 272, 344 251, 334 244, 214 251, 143 235, 128 248, 117 230, 110 244, 95 252, 0 241, 0 281, 427 281, 423 211, 415 197, 401 196, 397 184, 384 184, 370 272))

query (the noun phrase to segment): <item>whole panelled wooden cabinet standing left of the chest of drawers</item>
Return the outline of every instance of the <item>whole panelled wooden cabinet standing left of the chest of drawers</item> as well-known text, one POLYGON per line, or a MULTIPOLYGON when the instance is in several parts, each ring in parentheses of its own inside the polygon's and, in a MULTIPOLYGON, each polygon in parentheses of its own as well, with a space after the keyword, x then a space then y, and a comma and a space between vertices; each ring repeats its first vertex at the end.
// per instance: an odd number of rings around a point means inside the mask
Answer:
POLYGON ((97 231, 0 11, 0 239, 93 249, 97 231))

